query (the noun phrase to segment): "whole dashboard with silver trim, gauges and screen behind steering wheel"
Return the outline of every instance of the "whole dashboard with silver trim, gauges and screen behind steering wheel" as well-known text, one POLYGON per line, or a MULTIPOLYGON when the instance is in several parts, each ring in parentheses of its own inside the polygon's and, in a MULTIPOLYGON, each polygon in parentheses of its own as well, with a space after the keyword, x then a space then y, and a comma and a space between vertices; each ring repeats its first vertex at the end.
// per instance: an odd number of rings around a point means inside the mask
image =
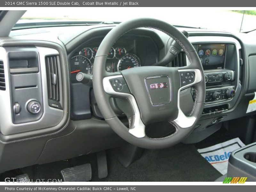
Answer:
MULTIPOLYGON (((124 144, 101 118, 93 87, 76 81, 80 71, 94 75, 97 48, 113 27, 77 26, 76 30, 56 27, 45 28, 47 32, 35 29, 34 34, 17 30, 12 32, 15 37, 0 40, 0 76, 5 78, 4 83, 0 81, 0 88, 5 85, 0 89, 0 105, 5 108, 0 110, 3 149, 0 171, 124 144), (49 68, 49 64, 55 64, 55 68, 49 68), (32 106, 40 110, 33 111, 32 106), (11 153, 14 147, 16 158, 11 153), (16 159, 21 161, 17 163, 16 159)), ((185 30, 198 53, 206 79, 204 112, 195 130, 183 141, 195 143, 218 130, 219 122, 255 114, 246 112, 256 91, 256 38, 249 34, 185 30)), ((164 58, 171 43, 172 38, 159 31, 132 30, 112 45, 105 69, 118 72, 151 66, 164 58)), ((181 51, 166 67, 189 65, 184 55, 181 51)), ((188 81, 185 77, 181 80, 188 81)), ((180 92, 180 108, 186 115, 193 109, 195 93, 193 89, 180 92)), ((113 107, 128 125, 115 108, 114 100, 113 107)))

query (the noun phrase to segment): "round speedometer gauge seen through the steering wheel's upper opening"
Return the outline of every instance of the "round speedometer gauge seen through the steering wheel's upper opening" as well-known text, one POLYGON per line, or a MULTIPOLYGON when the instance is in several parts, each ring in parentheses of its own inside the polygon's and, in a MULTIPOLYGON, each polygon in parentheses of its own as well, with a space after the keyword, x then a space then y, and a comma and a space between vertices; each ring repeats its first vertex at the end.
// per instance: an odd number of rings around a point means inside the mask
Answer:
POLYGON ((138 56, 134 54, 127 54, 119 60, 117 69, 118 71, 122 71, 124 69, 140 67, 140 65, 140 59, 138 56))

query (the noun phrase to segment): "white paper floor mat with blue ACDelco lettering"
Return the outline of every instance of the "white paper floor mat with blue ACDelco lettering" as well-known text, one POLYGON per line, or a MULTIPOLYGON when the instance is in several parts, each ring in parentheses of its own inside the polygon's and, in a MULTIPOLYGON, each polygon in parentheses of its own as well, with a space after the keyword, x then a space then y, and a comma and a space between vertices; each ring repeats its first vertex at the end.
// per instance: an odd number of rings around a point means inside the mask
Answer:
POLYGON ((198 152, 221 174, 228 170, 228 158, 232 151, 241 148, 244 143, 239 139, 231 139, 211 147, 198 149, 198 152))

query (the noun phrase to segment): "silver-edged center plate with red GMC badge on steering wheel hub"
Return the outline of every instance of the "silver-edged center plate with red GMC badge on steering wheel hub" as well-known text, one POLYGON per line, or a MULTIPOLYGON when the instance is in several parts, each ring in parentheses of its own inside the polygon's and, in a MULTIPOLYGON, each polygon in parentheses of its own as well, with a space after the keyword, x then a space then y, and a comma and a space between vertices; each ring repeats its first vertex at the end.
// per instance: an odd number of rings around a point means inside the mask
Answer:
POLYGON ((150 102, 153 106, 171 102, 171 79, 169 76, 150 76, 145 78, 150 102))

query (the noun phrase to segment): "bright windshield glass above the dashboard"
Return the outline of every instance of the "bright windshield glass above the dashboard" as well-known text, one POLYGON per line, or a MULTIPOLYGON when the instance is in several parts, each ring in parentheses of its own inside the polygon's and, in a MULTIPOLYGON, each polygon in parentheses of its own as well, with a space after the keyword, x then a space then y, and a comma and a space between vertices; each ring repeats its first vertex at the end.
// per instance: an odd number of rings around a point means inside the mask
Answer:
MULTIPOLYGON (((256 11, 211 10, 208 8, 170 7, 87 7, 87 8, 47 8, 27 11, 20 23, 70 21, 122 22, 124 20, 150 17, 164 20, 172 25, 207 28, 234 32, 248 32, 256 29, 256 11), (182 9, 182 13, 181 13, 182 9), (143 11, 142 11, 143 10, 143 11)), ((49 23, 50 24, 50 23, 49 23)), ((37 25, 35 25, 37 27, 37 25)))

